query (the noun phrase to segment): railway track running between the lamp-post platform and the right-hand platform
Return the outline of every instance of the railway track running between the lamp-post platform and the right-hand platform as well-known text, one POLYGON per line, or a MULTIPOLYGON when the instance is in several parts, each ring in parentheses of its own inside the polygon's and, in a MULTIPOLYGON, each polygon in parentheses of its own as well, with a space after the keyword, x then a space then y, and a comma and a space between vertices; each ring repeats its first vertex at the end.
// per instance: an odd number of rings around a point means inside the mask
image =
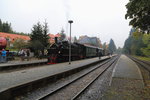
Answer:
POLYGON ((48 92, 38 100, 75 100, 77 99, 97 78, 99 78, 107 69, 112 66, 118 57, 107 60, 88 72, 76 77, 72 81, 59 86, 55 90, 48 92))

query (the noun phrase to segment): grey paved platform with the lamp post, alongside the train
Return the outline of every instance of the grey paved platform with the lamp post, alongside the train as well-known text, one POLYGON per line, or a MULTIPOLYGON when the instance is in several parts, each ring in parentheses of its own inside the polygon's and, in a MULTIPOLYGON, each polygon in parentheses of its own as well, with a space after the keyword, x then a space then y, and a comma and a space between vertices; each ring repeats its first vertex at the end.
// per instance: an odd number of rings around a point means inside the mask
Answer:
MULTIPOLYGON (((101 59, 105 58, 108 57, 102 57, 101 59)), ((0 73, 0 92, 21 84, 29 83, 34 80, 42 79, 44 77, 74 69, 79 66, 84 66, 98 60, 99 58, 96 57, 80 61, 72 61, 70 65, 67 62, 54 65, 45 65, 42 67, 25 69, 9 73, 0 73)))

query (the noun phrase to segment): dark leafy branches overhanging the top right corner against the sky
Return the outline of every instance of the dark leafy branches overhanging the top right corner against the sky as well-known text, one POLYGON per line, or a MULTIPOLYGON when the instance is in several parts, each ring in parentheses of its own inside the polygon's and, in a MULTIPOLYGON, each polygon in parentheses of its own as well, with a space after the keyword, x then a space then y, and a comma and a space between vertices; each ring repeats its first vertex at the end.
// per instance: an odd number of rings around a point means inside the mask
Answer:
POLYGON ((130 25, 140 28, 142 32, 150 32, 150 0, 130 0, 126 5, 126 19, 130 25))

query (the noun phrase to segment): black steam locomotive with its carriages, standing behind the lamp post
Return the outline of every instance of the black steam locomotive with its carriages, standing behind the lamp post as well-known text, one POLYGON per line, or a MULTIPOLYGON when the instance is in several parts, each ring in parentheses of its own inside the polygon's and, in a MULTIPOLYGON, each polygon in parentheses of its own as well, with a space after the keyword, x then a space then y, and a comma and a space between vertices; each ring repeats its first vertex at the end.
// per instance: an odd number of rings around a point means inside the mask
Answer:
MULTIPOLYGON (((105 51, 102 48, 88 46, 79 43, 71 43, 71 61, 104 56, 105 51)), ((69 61, 69 42, 56 42, 48 49, 48 63, 60 63, 69 61)))

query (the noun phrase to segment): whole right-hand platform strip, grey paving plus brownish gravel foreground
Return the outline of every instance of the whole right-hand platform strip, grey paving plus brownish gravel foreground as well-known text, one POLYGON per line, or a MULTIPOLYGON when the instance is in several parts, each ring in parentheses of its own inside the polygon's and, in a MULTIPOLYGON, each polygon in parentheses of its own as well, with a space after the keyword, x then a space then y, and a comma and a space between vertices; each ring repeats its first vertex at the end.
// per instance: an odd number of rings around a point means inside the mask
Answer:
POLYGON ((143 100, 143 88, 140 69, 130 58, 121 55, 113 70, 110 89, 104 100, 143 100))

